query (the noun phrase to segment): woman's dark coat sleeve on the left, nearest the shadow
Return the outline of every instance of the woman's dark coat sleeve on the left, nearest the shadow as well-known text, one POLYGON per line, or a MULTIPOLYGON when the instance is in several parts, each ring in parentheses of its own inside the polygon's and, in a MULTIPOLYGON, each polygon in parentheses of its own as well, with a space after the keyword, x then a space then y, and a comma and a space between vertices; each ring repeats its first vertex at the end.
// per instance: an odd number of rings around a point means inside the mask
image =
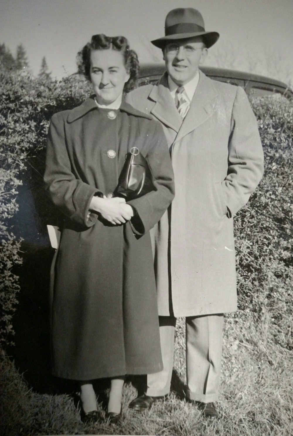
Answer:
POLYGON ((93 195, 103 194, 72 173, 60 113, 53 115, 49 127, 44 182, 53 203, 70 220, 86 227, 97 221, 97 214, 90 213, 89 206, 93 195))

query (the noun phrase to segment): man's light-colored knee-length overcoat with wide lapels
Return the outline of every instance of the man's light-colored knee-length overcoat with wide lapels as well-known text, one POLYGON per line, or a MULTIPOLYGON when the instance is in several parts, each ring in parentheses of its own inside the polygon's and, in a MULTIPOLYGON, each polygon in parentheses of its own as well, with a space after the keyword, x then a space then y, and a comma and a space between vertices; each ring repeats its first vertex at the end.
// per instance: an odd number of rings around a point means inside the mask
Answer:
POLYGON ((162 124, 175 175, 176 196, 153 232, 159 314, 236 310, 233 215, 263 174, 260 135, 245 92, 200 72, 183 122, 166 73, 158 84, 130 92, 128 101, 162 124))

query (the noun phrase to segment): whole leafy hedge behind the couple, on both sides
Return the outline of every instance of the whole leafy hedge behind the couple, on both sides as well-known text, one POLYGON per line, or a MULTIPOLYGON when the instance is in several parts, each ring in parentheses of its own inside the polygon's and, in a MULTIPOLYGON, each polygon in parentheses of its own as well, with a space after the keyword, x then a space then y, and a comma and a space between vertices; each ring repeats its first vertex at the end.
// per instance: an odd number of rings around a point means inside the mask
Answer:
MULTIPOLYGON (((21 241, 10 229, 17 211, 17 187, 27 168, 40 183, 45 138, 54 112, 77 106, 90 94, 78 75, 60 82, 0 72, 0 343, 12 342, 12 316, 21 292, 13 266, 21 262, 21 241)), ((292 349, 292 137, 293 104, 275 95, 253 99, 265 153, 263 179, 249 203, 234 219, 239 309, 263 311, 272 320, 274 341, 292 349)), ((41 216, 40 232, 52 222, 53 206, 35 198, 41 216)), ((236 314, 237 316, 237 314, 236 314)))

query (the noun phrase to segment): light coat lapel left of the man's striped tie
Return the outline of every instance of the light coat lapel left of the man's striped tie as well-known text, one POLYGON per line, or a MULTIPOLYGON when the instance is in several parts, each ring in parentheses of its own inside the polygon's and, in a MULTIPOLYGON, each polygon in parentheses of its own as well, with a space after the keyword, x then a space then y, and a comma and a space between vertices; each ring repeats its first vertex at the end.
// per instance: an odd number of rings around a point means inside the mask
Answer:
POLYGON ((153 86, 149 98, 155 102, 150 113, 161 123, 178 132, 182 125, 182 118, 171 97, 166 73, 161 77, 160 82, 153 86))

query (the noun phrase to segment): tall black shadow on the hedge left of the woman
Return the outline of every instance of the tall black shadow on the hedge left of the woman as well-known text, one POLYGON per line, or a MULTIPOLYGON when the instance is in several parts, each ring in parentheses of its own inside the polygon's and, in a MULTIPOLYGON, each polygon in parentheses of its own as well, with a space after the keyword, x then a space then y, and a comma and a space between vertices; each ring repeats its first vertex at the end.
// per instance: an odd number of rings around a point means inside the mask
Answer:
POLYGON ((47 224, 56 224, 58 217, 44 191, 44 162, 44 149, 29 160, 23 185, 18 188, 19 210, 10 220, 11 231, 23 241, 22 264, 12 271, 20 285, 12 318, 15 345, 6 351, 34 391, 58 393, 71 391, 73 384, 54 378, 50 372, 49 289, 55 250, 50 246, 47 224))

